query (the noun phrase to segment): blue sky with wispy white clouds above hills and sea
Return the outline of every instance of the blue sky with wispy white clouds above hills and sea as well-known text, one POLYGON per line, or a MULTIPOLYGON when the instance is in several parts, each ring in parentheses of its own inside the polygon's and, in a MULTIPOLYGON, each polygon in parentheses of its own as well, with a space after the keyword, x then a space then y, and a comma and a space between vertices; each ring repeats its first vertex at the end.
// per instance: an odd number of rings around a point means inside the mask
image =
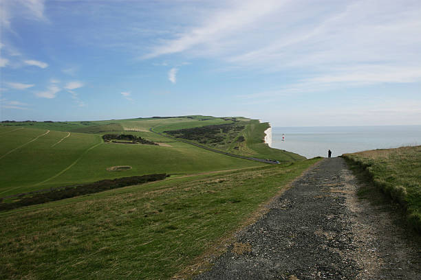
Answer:
POLYGON ((0 120, 421 124, 421 1, 0 0, 0 120))

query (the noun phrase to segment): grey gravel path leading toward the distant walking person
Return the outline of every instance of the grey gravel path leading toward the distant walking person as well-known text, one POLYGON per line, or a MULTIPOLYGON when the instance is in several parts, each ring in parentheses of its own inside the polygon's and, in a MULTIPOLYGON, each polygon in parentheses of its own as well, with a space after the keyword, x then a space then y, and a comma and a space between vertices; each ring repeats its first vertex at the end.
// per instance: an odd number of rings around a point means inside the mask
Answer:
POLYGON ((323 160, 195 279, 421 279, 419 239, 357 189, 343 159, 323 160))

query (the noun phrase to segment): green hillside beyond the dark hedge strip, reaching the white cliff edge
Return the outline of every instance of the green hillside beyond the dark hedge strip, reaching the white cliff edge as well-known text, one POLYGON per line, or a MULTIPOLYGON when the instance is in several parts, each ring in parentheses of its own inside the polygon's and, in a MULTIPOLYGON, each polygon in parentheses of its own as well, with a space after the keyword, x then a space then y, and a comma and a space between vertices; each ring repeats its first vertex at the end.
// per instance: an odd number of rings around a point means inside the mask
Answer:
MULTIPOLYGON (((262 163, 217 154, 155 133, 231 124, 243 126, 243 123, 250 124, 237 130, 237 135, 230 135, 234 139, 244 136, 237 154, 279 161, 303 159, 296 154, 269 148, 262 141, 266 125, 244 118, 186 116, 110 121, 3 122, 0 126, 0 197, 107 178, 153 173, 180 176, 261 166, 262 163), (159 145, 104 143, 101 137, 108 133, 134 135, 159 145), (111 167, 120 165, 131 168, 110 171, 111 167)), ((235 152, 229 148, 232 145, 217 145, 216 148, 235 152)))

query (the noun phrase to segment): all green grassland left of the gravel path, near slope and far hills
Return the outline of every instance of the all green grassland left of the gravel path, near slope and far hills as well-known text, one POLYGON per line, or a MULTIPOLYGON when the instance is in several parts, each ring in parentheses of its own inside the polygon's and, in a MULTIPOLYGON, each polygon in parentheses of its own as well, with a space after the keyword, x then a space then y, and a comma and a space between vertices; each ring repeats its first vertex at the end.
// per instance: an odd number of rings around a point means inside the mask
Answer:
POLYGON ((3 122, 2 205, 34 198, 25 192, 107 178, 164 173, 165 179, 1 211, 1 277, 169 279, 319 160, 269 148, 263 143, 267 127, 209 116, 3 122), (149 145, 105 142, 105 134, 119 141, 134 135, 149 145), (239 159, 178 140, 283 163, 239 159), (131 169, 110 170, 118 166, 131 169))

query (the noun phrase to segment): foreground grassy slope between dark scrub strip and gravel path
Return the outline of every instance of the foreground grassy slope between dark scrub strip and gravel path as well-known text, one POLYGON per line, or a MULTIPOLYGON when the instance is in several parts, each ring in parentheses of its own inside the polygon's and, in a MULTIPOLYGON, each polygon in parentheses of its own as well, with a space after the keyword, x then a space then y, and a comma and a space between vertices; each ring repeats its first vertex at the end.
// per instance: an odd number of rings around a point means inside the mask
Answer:
POLYGON ((0 213, 0 275, 169 279, 316 161, 169 178, 0 213))

